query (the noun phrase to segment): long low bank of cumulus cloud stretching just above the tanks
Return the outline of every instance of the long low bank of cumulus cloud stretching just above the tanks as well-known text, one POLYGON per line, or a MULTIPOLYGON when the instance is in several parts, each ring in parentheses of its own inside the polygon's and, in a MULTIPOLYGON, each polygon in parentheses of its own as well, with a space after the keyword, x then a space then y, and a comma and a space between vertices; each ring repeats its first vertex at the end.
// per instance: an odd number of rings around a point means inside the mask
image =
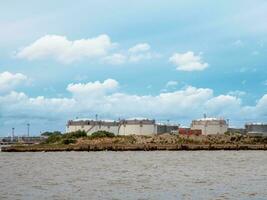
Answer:
POLYGON ((72 83, 65 98, 29 97, 25 93, 11 91, 0 95, 2 119, 14 117, 61 120, 61 127, 76 116, 88 117, 98 113, 116 119, 118 117, 145 116, 189 122, 207 113, 233 121, 259 121, 267 119, 267 94, 254 106, 242 105, 240 97, 229 94, 214 95, 212 89, 187 86, 173 92, 158 95, 136 95, 119 91, 119 82, 107 79, 103 82, 72 83))

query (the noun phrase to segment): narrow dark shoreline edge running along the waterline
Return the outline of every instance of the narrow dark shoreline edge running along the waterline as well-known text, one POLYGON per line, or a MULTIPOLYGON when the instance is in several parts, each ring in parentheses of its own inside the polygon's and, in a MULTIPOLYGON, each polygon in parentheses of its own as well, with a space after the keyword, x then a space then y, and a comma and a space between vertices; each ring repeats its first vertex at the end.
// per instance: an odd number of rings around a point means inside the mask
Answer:
POLYGON ((240 151, 267 150, 266 144, 97 144, 97 145, 28 145, 2 147, 2 152, 60 151, 240 151))

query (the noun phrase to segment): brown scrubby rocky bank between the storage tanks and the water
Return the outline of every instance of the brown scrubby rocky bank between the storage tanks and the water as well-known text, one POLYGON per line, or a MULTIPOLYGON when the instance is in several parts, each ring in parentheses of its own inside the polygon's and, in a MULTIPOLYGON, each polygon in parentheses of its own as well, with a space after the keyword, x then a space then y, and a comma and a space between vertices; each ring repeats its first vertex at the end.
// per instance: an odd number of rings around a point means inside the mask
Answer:
POLYGON ((116 136, 79 138, 74 144, 36 144, 2 147, 3 152, 51 151, 195 151, 195 150, 267 150, 266 138, 240 135, 177 136, 116 136))

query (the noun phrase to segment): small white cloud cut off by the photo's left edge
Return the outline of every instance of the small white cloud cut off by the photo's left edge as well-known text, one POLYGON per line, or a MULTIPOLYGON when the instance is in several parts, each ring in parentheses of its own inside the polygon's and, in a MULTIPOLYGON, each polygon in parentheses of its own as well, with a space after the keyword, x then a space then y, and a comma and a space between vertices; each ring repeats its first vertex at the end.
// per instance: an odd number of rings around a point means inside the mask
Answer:
POLYGON ((21 73, 12 74, 8 71, 0 73, 0 93, 10 91, 26 81, 27 77, 21 73))

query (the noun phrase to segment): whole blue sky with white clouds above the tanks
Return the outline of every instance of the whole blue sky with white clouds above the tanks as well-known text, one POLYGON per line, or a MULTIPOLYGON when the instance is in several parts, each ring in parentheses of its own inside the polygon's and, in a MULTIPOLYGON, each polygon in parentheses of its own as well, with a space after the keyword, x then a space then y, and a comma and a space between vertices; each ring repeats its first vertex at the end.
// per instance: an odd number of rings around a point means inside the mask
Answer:
POLYGON ((0 3, 0 136, 75 118, 267 122, 267 1, 0 3))

